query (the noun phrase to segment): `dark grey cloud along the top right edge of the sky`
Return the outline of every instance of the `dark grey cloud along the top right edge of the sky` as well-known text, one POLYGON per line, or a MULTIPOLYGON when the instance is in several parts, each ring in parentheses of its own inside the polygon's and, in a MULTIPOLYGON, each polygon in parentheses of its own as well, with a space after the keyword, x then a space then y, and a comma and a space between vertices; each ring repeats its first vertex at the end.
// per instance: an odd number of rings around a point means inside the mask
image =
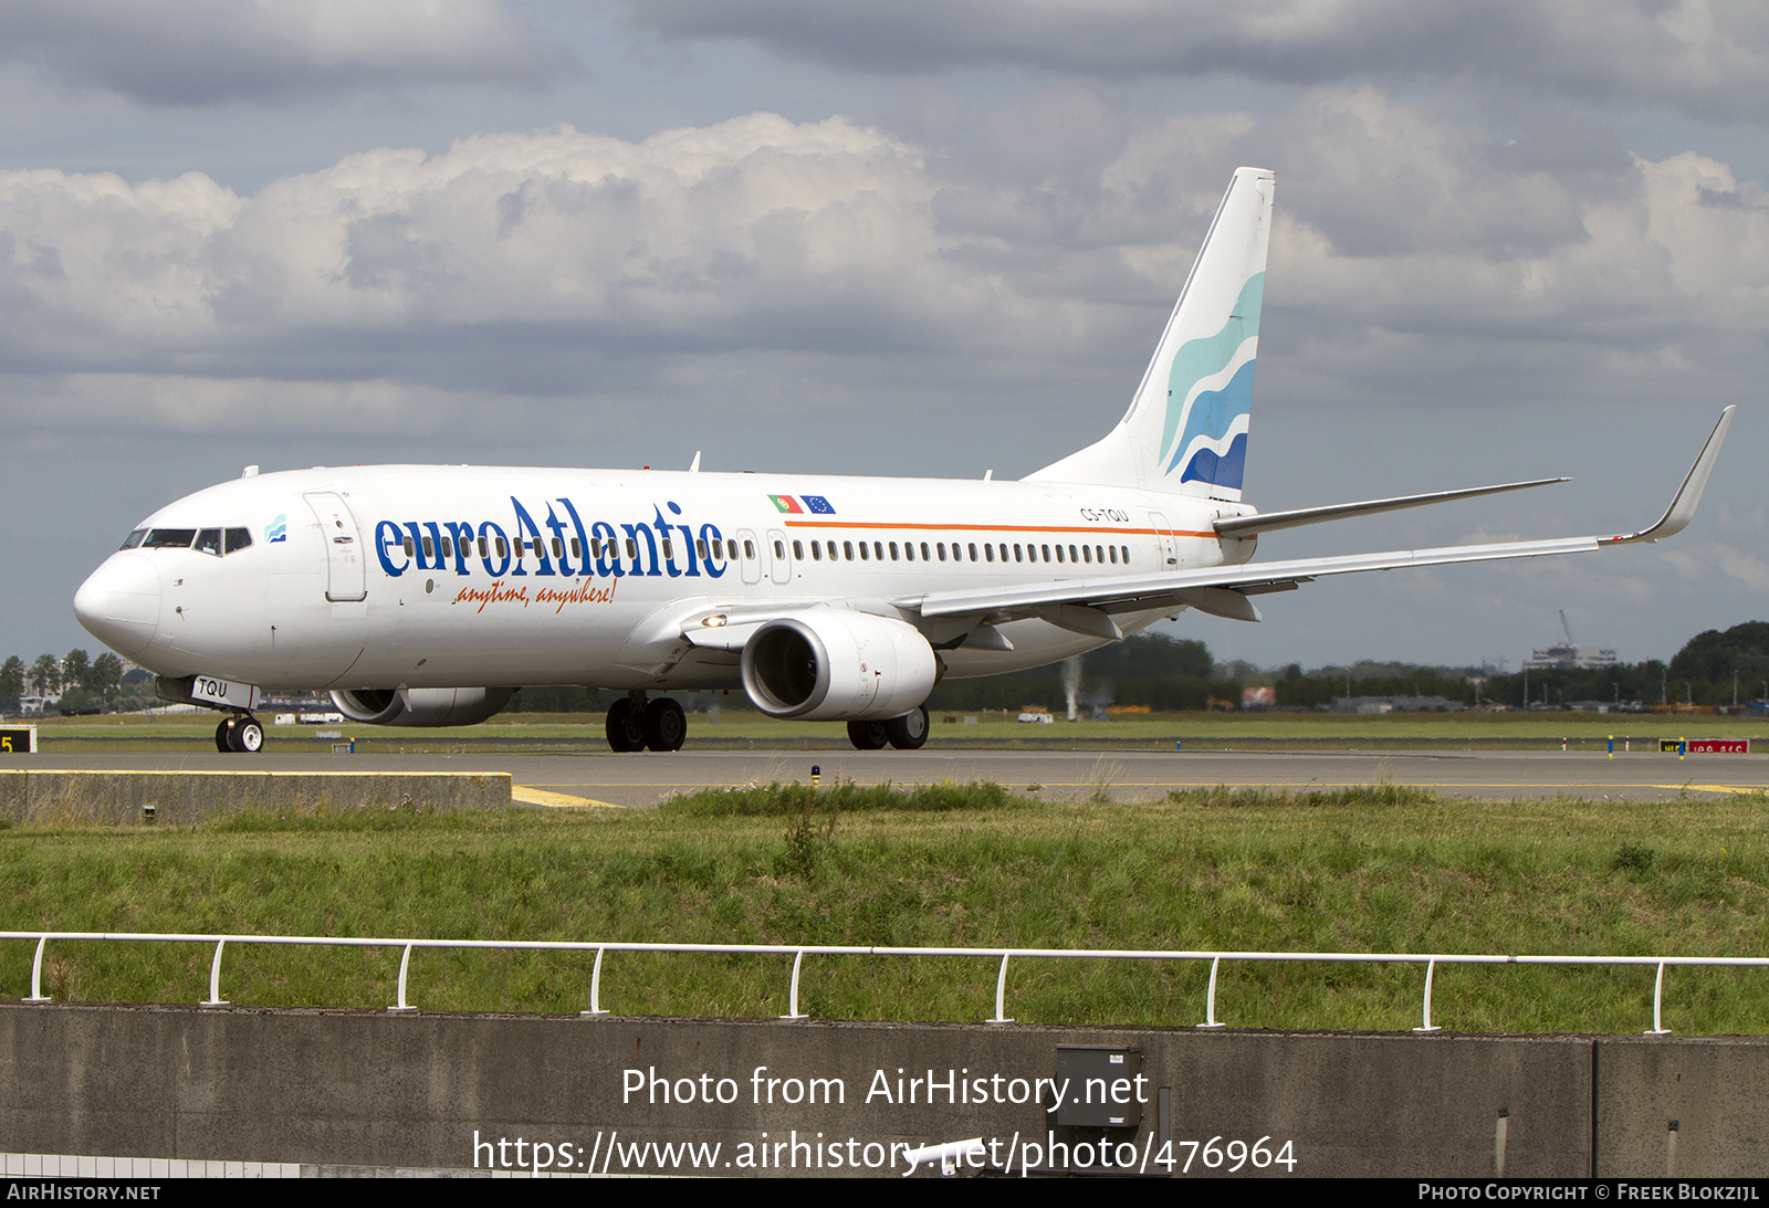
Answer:
POLYGON ((1769 18, 1748 0, 612 0, 667 39, 745 39, 842 69, 1017 65, 1125 76, 1467 76, 1702 117, 1769 108, 1769 18))

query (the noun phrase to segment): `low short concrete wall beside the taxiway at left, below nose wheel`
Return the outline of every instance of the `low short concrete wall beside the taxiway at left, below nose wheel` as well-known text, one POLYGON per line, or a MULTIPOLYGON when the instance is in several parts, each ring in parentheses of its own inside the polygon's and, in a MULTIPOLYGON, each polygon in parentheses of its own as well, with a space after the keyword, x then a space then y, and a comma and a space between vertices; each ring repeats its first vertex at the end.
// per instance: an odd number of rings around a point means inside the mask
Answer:
POLYGON ((0 769, 0 819, 14 822, 200 822, 237 810, 299 812, 509 805, 509 773, 62 771, 0 769))

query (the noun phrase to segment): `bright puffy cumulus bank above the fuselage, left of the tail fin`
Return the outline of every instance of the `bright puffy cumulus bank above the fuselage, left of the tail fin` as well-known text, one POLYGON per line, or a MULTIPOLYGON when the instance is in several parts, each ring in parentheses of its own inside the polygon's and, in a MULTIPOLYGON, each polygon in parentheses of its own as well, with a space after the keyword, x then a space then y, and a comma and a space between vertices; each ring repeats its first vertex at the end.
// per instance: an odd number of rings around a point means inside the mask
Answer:
POLYGON ((999 345, 1026 304, 943 255, 932 193, 915 147, 773 115, 375 150, 251 196, 200 173, 9 172, 0 371, 548 393, 586 359, 999 345))

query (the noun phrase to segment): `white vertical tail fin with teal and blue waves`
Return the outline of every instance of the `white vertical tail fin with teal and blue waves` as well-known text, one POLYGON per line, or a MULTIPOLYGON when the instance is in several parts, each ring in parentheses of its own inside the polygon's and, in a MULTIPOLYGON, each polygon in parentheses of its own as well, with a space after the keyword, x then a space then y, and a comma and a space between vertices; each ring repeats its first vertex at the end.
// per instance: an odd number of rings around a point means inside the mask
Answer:
POLYGON ((1028 478, 1240 499, 1275 177, 1237 168, 1130 410, 1028 478))

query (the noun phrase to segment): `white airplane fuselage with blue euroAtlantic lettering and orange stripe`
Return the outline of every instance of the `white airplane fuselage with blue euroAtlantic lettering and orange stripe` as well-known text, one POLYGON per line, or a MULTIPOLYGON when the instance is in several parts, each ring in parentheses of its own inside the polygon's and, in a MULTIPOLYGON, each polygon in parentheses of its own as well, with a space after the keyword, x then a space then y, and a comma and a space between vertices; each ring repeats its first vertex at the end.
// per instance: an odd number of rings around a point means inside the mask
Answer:
MULTIPOLYGON (((738 688, 738 656, 686 642, 704 614, 1245 562, 1219 515, 1123 486, 656 470, 380 465, 249 476, 142 522, 81 587, 83 624, 149 670, 280 690, 586 684, 738 688), (177 531, 249 534, 212 552, 177 531), (145 536, 142 536, 145 531, 145 536), (156 532, 163 545, 154 547, 156 532), (540 543, 540 550, 534 543, 540 543), (520 554, 518 554, 520 543, 520 554), (833 548, 831 548, 833 547, 833 548), (833 555, 831 555, 833 554, 833 555)), ((1134 631, 1173 607, 1120 617, 1134 631)), ((1102 644, 1038 619, 1005 649, 943 644, 987 676, 1102 644)))

